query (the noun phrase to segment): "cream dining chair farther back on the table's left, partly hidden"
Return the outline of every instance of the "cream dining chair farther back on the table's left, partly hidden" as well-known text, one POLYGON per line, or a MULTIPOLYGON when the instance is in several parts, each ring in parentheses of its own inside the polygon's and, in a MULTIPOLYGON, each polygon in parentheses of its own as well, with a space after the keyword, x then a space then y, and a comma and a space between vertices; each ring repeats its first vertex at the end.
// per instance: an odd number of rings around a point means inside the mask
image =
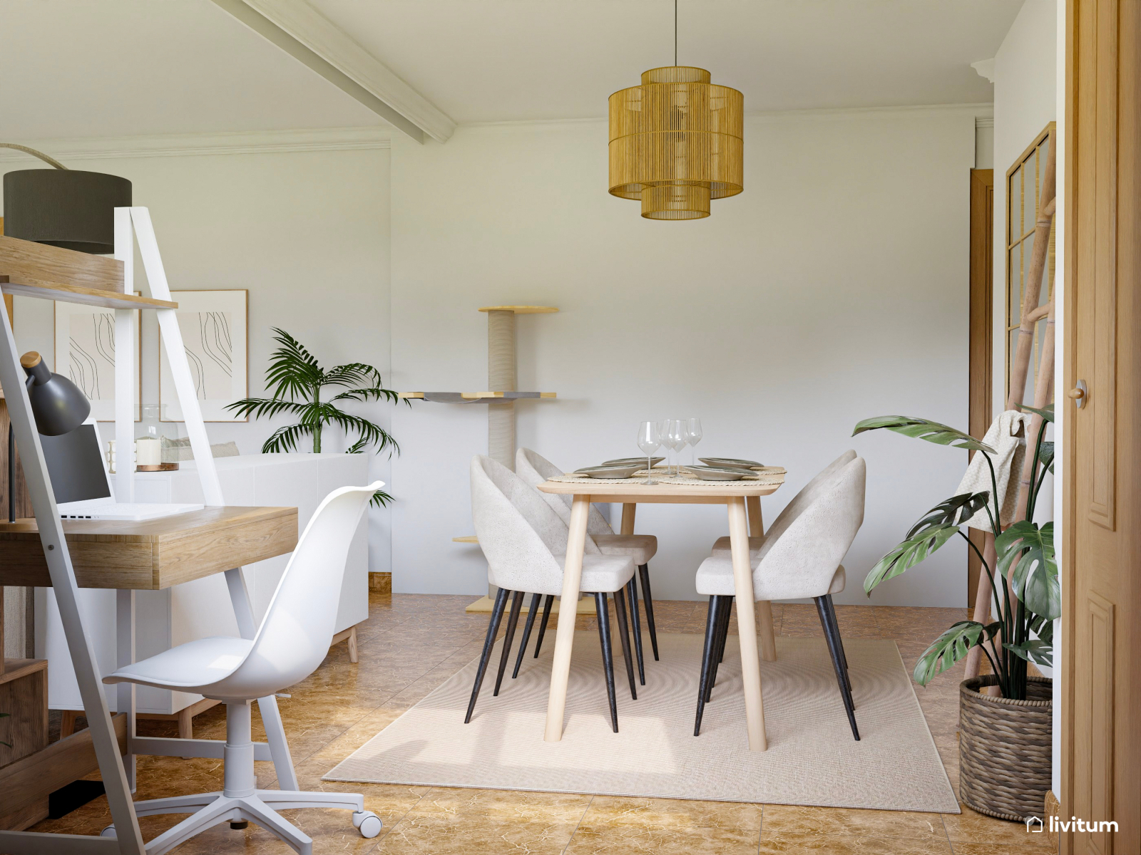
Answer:
MULTIPOLYGON (((515 454, 515 471, 524 481, 532 487, 539 487, 553 475, 564 474, 563 470, 548 461, 537 451, 529 448, 520 448, 515 454)), ((567 526, 570 524, 570 496, 559 492, 542 492, 540 495, 555 513, 559 515, 567 526)), ((654 622, 654 596, 649 589, 649 560, 657 553, 657 538, 653 535, 615 535, 602 514, 593 505, 586 516, 586 535, 593 539, 599 551, 604 555, 629 555, 638 567, 638 577, 642 584, 642 598, 646 601, 646 628, 649 629, 649 643, 654 650, 654 659, 657 659, 657 626, 654 622)), ((634 649, 638 654, 638 677, 642 685, 646 685, 646 671, 642 666, 641 650, 641 616, 638 613, 638 586, 631 579, 626 586, 626 598, 630 601, 630 614, 633 622, 634 649)), ((539 656, 539 645, 543 642, 543 633, 547 632, 547 620, 551 614, 551 603, 553 597, 548 597, 543 604, 543 624, 539 628, 539 641, 535 643, 535 656, 539 656)))

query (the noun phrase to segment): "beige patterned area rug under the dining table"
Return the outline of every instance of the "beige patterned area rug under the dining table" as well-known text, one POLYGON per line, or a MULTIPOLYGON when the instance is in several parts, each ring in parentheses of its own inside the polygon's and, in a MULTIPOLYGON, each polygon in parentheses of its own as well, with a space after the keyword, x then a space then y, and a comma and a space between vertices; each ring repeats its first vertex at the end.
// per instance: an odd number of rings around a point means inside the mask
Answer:
POLYGON ((857 742, 824 640, 777 638, 777 661, 761 662, 769 748, 754 752, 745 735, 736 635, 729 636, 695 738, 702 636, 659 635, 661 661, 654 661, 647 637, 646 685, 638 686, 637 701, 615 638, 614 733, 598 634, 576 633, 566 730, 560 742, 544 742, 553 629, 539 659, 528 652, 517 679, 512 650, 503 689, 493 698, 502 640, 496 644, 470 724, 463 715, 478 659, 325 780, 958 813, 892 641, 844 642, 857 742))

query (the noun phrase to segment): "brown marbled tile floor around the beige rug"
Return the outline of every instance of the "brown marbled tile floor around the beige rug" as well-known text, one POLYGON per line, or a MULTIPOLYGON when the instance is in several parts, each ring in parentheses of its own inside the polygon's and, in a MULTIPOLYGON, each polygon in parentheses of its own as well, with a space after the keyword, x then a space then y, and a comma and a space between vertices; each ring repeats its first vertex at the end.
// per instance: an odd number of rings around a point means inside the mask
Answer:
MULTIPOLYGON (((851 811, 780 805, 738 805, 648 798, 505 792, 428 787, 342 784, 321 776, 405 709, 479 653, 486 614, 467 614, 470 596, 373 594, 370 619, 359 630, 359 663, 343 644, 281 702, 301 787, 363 792, 385 822, 379 838, 365 840, 340 811, 285 812, 315 841, 315 853, 511 853, 513 855, 1046 855, 1038 836, 963 807, 958 815, 851 811), (1033 845, 1037 844, 1037 845, 1033 845)), ((662 632, 701 633, 705 603, 658 602, 662 632)), ((836 609, 844 636, 893 638, 908 668, 928 643, 965 609, 845 606, 836 609)), ((812 605, 774 606, 780 635, 822 635, 812 605)), ((581 617, 581 628, 594 619, 581 617)), ((551 627, 553 629, 553 626, 551 627)), ((736 627, 731 628, 736 632, 736 627)), ((550 636, 548 636, 550 638, 550 636)), ((646 649, 649 650, 648 638, 646 649)), ((916 687, 931 733, 958 785, 957 685, 962 666, 926 689, 916 687)), ((839 700, 837 700, 839 703, 839 700)), ((58 727, 58 724, 56 724, 58 727)), ((258 739, 260 722, 256 722, 258 739)), ((173 725, 140 723, 148 735, 175 735, 173 725)), ((195 735, 220 739, 220 707, 195 719, 195 735)), ((258 764, 261 785, 273 785, 273 766, 258 764)), ((140 758, 137 798, 220 789, 221 762, 140 758)), ((178 817, 141 820, 149 839, 178 817)), ((94 834, 111 822, 105 798, 37 831, 94 834)), ((284 844, 251 825, 243 831, 216 826, 178 853, 288 853, 284 844)))

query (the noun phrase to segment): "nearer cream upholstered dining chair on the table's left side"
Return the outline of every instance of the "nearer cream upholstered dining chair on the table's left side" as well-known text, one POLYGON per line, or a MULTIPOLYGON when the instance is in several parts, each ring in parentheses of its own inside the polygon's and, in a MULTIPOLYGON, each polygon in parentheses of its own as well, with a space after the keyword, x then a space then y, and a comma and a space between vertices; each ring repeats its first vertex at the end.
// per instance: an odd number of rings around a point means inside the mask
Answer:
MULTIPOLYGON (((495 595, 495 605, 487 624, 487 635, 484 638, 484 650, 479 657, 479 668, 476 671, 476 683, 471 690, 464 724, 471 720, 471 714, 476 708, 479 687, 483 685, 487 660, 495 645, 495 635, 503 618, 508 594, 513 596, 507 634, 503 637, 503 652, 500 654, 499 675, 495 678, 493 692, 495 695, 499 694, 503 683, 515 628, 523 611, 523 595, 532 594, 532 601, 512 678, 519 674, 540 597, 545 594, 548 602, 551 602, 556 595, 563 593, 563 565, 566 562, 568 535, 566 523, 540 498, 535 488, 507 466, 484 455, 476 455, 471 459, 471 520, 476 527, 479 547, 487 559, 487 581, 499 587, 499 593, 495 595)), ((618 707, 614 692, 610 618, 606 595, 614 594, 622 654, 626 662, 626 677, 630 679, 630 695, 637 700, 638 690, 634 687, 623 596, 623 591, 633 576, 634 562, 629 555, 605 555, 590 540, 586 542, 578 589, 594 595, 598 637, 602 645, 602 670, 606 674, 606 692, 610 703, 610 727, 615 733, 618 732, 618 707)), ((574 609, 576 603, 564 602, 563 608, 574 609)))

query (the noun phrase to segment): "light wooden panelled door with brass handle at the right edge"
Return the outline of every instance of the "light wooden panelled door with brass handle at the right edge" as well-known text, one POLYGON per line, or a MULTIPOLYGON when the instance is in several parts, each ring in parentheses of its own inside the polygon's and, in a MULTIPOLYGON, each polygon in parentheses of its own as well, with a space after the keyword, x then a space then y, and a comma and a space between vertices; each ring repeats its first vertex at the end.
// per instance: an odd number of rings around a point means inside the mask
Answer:
POLYGON ((1141 852, 1141 2, 1067 9, 1062 852, 1141 852), (1079 408, 1077 400, 1083 401, 1079 408))

